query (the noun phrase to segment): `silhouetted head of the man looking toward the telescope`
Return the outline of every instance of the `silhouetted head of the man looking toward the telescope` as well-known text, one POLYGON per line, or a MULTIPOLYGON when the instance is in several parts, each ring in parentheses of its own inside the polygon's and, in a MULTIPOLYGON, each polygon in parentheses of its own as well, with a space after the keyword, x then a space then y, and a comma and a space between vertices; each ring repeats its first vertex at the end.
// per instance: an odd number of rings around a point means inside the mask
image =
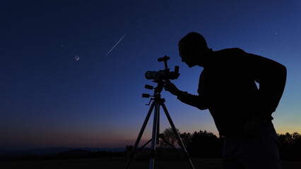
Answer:
POLYGON ((179 40, 179 56, 190 68, 203 66, 204 56, 209 51, 205 38, 197 32, 190 32, 179 40))

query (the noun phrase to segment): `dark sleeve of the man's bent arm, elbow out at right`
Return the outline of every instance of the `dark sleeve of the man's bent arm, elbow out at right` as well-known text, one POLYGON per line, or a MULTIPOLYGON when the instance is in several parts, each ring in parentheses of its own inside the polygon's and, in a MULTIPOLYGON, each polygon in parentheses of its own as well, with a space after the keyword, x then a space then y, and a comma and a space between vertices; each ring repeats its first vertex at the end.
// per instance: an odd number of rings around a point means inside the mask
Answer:
POLYGON ((259 83, 259 117, 268 118, 281 100, 285 88, 286 68, 271 59, 247 54, 248 67, 259 83))

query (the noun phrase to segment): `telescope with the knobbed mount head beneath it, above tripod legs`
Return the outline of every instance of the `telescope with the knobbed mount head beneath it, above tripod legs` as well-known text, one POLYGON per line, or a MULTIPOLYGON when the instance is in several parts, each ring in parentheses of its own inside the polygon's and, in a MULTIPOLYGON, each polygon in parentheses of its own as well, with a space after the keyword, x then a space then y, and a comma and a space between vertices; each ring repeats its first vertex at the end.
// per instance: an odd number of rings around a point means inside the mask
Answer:
MULTIPOLYGON (((175 66, 175 71, 170 72, 170 68, 167 67, 167 61, 170 59, 170 57, 168 56, 164 56, 162 58, 158 58, 158 62, 164 62, 165 65, 165 69, 164 70, 159 70, 159 71, 147 71, 146 72, 146 79, 148 80, 153 80, 153 82, 157 83, 157 87, 153 87, 151 85, 146 84, 145 88, 146 89, 155 89, 154 90, 154 94, 151 98, 152 100, 155 99, 160 99, 160 93, 163 90, 164 85, 167 82, 170 82, 170 80, 175 80, 177 79, 177 77, 179 77, 179 66, 176 65, 175 66)), ((149 98, 151 97, 150 94, 142 94, 142 97, 144 98, 149 98)), ((146 105, 150 105, 151 101, 146 104, 146 105)))

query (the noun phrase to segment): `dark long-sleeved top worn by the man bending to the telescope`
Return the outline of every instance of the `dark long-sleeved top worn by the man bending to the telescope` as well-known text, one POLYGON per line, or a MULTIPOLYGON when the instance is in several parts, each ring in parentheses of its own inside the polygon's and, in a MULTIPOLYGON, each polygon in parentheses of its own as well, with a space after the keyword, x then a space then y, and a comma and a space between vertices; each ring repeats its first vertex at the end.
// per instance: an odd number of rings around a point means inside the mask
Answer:
POLYGON ((247 120, 257 115, 272 120, 283 94, 285 66, 242 49, 213 51, 199 77, 199 95, 182 92, 178 99, 210 111, 220 135, 242 134, 247 120), (259 89, 256 83, 259 83, 259 89))

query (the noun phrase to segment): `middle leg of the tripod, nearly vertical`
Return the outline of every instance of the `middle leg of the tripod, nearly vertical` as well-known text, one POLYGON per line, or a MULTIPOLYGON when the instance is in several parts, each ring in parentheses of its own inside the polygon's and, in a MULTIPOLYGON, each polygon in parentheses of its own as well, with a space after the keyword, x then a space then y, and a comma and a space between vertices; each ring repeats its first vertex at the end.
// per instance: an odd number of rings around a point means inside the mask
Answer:
POLYGON ((160 109, 160 104, 158 101, 154 101, 155 103, 155 113, 153 115, 153 135, 152 135, 152 140, 151 140, 151 158, 150 158, 150 168, 154 168, 154 162, 155 162, 155 145, 157 142, 157 137, 158 137, 158 120, 159 120, 159 109, 160 109))

